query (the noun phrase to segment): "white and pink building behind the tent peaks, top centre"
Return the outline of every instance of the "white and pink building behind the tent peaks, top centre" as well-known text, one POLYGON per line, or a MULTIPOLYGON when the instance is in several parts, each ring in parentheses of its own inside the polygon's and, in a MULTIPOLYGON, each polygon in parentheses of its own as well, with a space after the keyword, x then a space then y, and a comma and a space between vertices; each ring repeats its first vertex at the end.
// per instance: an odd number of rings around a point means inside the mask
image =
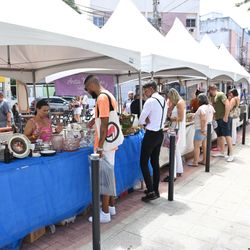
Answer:
MULTIPOLYGON (((151 22, 154 22, 153 3, 157 2, 157 11, 161 32, 166 34, 172 27, 176 17, 187 27, 188 31, 199 38, 199 10, 200 0, 132 0, 136 7, 151 22)), ((119 0, 76 0, 82 12, 88 15, 98 27, 102 27, 108 20, 119 0), (83 4, 84 2, 84 4, 83 4)), ((128 13, 129 18, 129 13, 128 13)))

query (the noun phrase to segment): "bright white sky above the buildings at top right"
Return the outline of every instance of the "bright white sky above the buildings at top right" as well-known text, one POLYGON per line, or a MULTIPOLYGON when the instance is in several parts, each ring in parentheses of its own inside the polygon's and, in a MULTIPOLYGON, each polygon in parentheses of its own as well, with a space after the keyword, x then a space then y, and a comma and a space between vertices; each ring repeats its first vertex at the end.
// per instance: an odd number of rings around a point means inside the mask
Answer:
POLYGON ((225 16, 231 16, 242 28, 250 28, 250 4, 235 7, 235 3, 243 0, 200 0, 200 14, 220 12, 225 16))

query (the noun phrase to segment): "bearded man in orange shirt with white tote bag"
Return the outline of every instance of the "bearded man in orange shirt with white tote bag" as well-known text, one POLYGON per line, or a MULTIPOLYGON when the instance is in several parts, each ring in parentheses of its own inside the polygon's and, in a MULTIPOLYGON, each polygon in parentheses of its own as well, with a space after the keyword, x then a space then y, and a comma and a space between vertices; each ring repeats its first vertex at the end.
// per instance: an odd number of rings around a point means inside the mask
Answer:
MULTIPOLYGON (((105 156, 106 160, 112 165, 115 165, 115 151, 104 151, 103 145, 108 132, 108 122, 110 115, 110 100, 111 105, 114 110, 117 110, 117 102, 115 97, 106 89, 104 89, 99 79, 94 75, 89 75, 84 81, 85 89, 88 93, 96 99, 95 106, 95 118, 89 122, 89 127, 94 126, 95 119, 100 118, 100 136, 98 138, 98 133, 96 132, 95 145, 94 149, 97 154, 100 154, 100 157, 105 156)), ((98 128, 96 128, 98 129, 98 128)), ((116 210, 114 206, 114 197, 110 197, 108 195, 102 196, 102 209, 100 210, 100 222, 108 223, 111 221, 111 215, 115 215, 116 210)), ((89 218, 89 221, 92 222, 92 217, 89 218)))

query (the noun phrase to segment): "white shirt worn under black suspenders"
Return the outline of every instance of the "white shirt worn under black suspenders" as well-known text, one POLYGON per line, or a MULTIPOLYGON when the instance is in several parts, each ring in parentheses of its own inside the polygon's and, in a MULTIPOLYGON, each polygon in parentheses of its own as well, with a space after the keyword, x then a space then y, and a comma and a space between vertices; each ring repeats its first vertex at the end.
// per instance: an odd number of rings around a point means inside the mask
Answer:
POLYGON ((144 104, 140 115, 139 124, 145 125, 146 119, 149 123, 146 125, 147 130, 159 131, 164 128, 167 117, 167 104, 165 99, 158 93, 154 93, 144 104), (156 99, 159 100, 159 103, 156 99), (164 106, 164 109, 163 109, 164 106))

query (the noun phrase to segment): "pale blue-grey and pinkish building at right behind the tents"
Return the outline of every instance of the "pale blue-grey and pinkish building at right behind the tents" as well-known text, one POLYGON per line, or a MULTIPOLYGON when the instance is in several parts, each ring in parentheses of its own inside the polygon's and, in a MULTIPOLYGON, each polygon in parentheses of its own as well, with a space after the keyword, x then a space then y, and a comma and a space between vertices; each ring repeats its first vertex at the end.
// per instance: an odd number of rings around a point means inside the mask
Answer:
POLYGON ((250 32, 231 17, 210 13, 200 19, 200 37, 207 34, 219 47, 222 43, 234 58, 250 71, 250 32))

